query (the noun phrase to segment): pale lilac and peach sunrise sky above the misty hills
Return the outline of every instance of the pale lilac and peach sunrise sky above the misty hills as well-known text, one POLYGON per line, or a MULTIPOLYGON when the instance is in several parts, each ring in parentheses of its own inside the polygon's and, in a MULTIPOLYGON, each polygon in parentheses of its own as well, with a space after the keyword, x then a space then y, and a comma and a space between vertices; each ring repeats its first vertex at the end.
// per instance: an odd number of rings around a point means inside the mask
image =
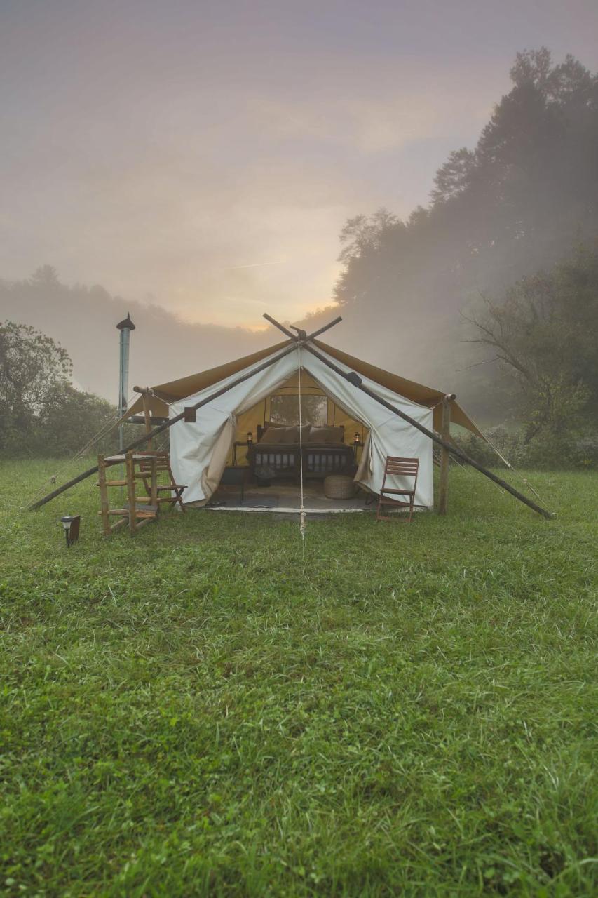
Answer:
POLYGON ((0 0, 0 277, 260 327, 330 304, 350 216, 427 205, 517 50, 596 0, 0 0))

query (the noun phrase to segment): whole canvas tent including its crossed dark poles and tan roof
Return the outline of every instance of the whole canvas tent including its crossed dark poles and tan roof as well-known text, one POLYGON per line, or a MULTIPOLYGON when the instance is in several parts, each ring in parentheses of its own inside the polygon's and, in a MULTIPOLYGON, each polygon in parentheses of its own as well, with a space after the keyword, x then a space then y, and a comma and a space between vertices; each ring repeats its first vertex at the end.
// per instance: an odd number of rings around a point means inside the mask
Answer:
MULTIPOLYGON (((446 511, 448 460, 449 455, 453 455, 462 463, 480 471, 488 480, 505 489, 537 514, 548 519, 554 516, 453 443, 449 433, 451 418, 472 434, 486 439, 466 412, 454 401, 456 397, 453 394, 445 395, 421 383, 390 374, 382 368, 349 356, 316 339, 324 330, 330 330, 341 321, 340 317, 309 335, 292 326, 296 336, 270 315, 265 313, 264 318, 278 330, 282 330, 289 339, 278 343, 275 347, 263 349, 227 365, 219 365, 201 374, 192 374, 178 381, 161 383, 145 390, 134 388, 136 392, 142 394, 141 397, 112 427, 118 427, 122 421, 135 416, 136 412, 143 411, 145 436, 138 436, 123 447, 123 452, 127 453, 127 456, 123 455, 122 458, 126 457, 128 462, 132 462, 134 449, 141 445, 151 449, 154 437, 165 430, 170 430, 171 446, 174 450, 172 467, 177 474, 176 480, 183 480, 187 471, 189 477, 185 480, 188 480, 189 485, 186 488, 185 498, 188 502, 205 504, 218 486, 227 458, 230 457, 230 453, 234 453, 237 442, 235 436, 243 436, 243 431, 251 427, 252 421, 259 423, 259 419, 263 419, 267 423, 266 416, 271 410, 273 394, 275 392, 296 394, 299 398, 303 394, 303 398, 307 398, 308 393, 315 393, 325 397, 329 422, 331 416, 333 422, 339 423, 336 416, 342 418, 344 415, 343 423, 349 425, 348 440, 346 430, 343 445, 339 445, 338 449, 336 447, 332 449, 334 456, 346 458, 347 452, 351 451, 346 444, 350 442, 350 431, 353 426, 362 428, 362 436, 367 435, 355 478, 366 489, 374 493, 380 489, 381 468, 389 453, 404 455, 409 453, 409 456, 418 457, 422 462, 422 477, 418 483, 416 502, 420 506, 431 506, 433 494, 431 444, 435 444, 441 449, 438 506, 440 514, 445 514, 446 511), (262 376, 270 368, 272 372, 262 376), (347 384, 350 384, 350 390, 347 390, 347 384), (226 394, 230 394, 230 399, 222 401, 222 397, 226 394), (381 411, 381 408, 384 411, 381 411), (183 419, 186 425, 197 424, 195 415, 198 409, 201 409, 199 427, 194 431, 188 431, 186 439, 177 426, 183 419), (389 412, 390 416, 387 416, 386 412, 389 412), (399 418, 402 424, 399 425, 396 418, 399 418), (174 428, 177 428, 176 431, 174 428), (173 434, 175 436, 172 436, 173 434), (422 440, 422 436, 425 439, 422 440)), ((300 416, 300 420, 303 422, 305 418, 300 416)), ((302 445, 303 443, 299 447, 300 458, 302 445)), ((255 450, 256 453, 258 448, 255 450)), ((314 447, 312 458, 317 453, 325 458, 327 452, 328 447, 324 447, 323 453, 321 449, 314 447)), ((274 462, 276 464, 278 464, 277 455, 276 450, 274 462)), ((268 455, 268 458, 270 457, 268 455)), ((310 461, 309 450, 307 460, 310 461)), ((352 462, 355 462, 354 457, 352 462)), ((33 510, 51 502, 66 489, 97 473, 100 470, 100 463, 99 457, 98 464, 52 489, 46 496, 31 502, 28 508, 33 510)), ((508 463, 507 467, 510 467, 508 463)), ((328 470, 327 465, 320 468, 319 476, 322 473, 325 476, 328 470)), ((283 471, 287 471, 284 463, 283 471)), ((303 472, 303 463, 299 471, 303 472)), ((257 476, 257 469, 255 473, 257 476)), ((308 474, 315 473, 315 469, 308 467, 308 474)), ((303 528, 303 473, 301 482, 303 528)), ((391 485, 401 488, 405 486, 400 481, 391 485)))

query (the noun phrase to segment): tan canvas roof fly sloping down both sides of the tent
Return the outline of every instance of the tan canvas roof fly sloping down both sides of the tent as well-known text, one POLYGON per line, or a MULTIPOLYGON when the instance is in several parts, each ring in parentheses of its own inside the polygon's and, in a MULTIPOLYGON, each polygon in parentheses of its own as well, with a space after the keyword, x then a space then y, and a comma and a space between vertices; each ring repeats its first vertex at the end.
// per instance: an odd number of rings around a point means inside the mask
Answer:
MULTIPOLYGON (((209 368, 207 371, 202 371, 198 374, 189 374, 188 377, 181 377, 177 381, 158 383, 152 387, 154 396, 150 397, 150 409, 154 415, 167 417, 168 403, 186 399, 188 396, 193 396, 195 393, 205 390, 215 383, 219 383, 224 380, 225 377, 230 377, 232 374, 237 374, 249 367, 249 365, 261 362, 263 359, 268 358, 268 356, 286 348, 290 343, 291 340, 283 340, 281 343, 276 343, 274 346, 260 349, 259 352, 254 352, 251 356, 237 358, 232 362, 227 362, 225 365, 216 365, 215 368, 209 368)), ((322 343, 321 340, 314 339, 313 343, 330 356, 336 358, 337 361, 341 362, 343 365, 347 365, 348 368, 356 371, 357 374, 363 374, 365 377, 369 377, 370 380, 380 383, 392 392, 399 393, 400 396, 404 396, 412 402, 417 402, 418 405, 435 408, 445 395, 445 392, 442 390, 435 390, 432 387, 424 386, 422 383, 409 381, 404 377, 400 377, 398 374, 391 374, 389 371, 384 371, 383 368, 378 368, 375 365, 370 365, 369 362, 364 362, 359 358, 349 356, 346 352, 342 352, 340 349, 329 346, 328 343, 322 343)), ((126 417, 128 418, 130 415, 134 415, 142 410, 143 400, 139 397, 128 409, 126 417)), ((436 430, 440 429, 440 417, 441 409, 440 406, 438 406, 434 413, 434 426, 436 430)), ((471 433, 476 434, 476 436, 484 438, 479 427, 476 426, 458 402, 453 402, 451 406, 451 420, 455 424, 466 427, 471 433)))

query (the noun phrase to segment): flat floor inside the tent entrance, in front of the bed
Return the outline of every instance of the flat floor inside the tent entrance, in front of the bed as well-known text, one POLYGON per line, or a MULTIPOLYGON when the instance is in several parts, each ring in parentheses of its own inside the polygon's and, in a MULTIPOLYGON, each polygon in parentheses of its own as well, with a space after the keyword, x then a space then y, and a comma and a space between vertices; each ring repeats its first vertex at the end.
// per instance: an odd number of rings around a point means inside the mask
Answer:
MULTIPOLYGON (((308 481, 303 484, 303 506, 309 514, 326 515, 347 512, 372 511, 375 503, 366 505, 366 499, 372 499, 362 489, 350 499, 329 499, 324 496, 323 484, 308 481)), ((239 487, 219 487, 204 506, 208 511, 251 511, 278 512, 296 514, 301 508, 299 487, 294 483, 277 483, 271 487, 246 486, 243 500, 239 487)))

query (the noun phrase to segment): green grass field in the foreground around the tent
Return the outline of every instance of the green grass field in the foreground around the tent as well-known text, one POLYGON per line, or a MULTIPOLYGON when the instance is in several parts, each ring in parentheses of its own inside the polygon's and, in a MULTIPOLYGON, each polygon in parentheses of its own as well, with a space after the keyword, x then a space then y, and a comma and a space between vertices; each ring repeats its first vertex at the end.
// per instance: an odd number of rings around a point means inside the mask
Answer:
POLYGON ((166 513, 0 473, 7 895, 591 895, 598 476, 450 514, 166 513), (81 513, 66 550, 59 515, 81 513))

